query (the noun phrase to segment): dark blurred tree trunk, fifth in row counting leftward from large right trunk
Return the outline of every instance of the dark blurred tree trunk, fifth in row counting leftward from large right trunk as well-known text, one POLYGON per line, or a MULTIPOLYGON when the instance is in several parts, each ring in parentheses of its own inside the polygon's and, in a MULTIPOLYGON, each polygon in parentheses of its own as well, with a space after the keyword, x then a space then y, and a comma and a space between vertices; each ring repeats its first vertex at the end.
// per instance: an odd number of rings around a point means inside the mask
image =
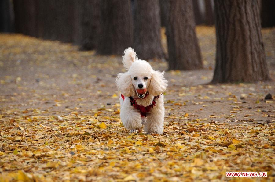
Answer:
POLYGON ((99 27, 98 0, 74 0, 74 43, 81 50, 96 48, 99 27))

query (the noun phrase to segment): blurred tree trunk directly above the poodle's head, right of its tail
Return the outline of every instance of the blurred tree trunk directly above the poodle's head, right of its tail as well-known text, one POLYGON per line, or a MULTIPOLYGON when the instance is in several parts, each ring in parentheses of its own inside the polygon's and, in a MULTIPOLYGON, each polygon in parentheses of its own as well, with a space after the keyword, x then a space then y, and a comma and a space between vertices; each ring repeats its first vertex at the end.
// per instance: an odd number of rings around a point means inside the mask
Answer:
POLYGON ((160 5, 156 0, 136 0, 134 50, 140 59, 163 58, 160 5))

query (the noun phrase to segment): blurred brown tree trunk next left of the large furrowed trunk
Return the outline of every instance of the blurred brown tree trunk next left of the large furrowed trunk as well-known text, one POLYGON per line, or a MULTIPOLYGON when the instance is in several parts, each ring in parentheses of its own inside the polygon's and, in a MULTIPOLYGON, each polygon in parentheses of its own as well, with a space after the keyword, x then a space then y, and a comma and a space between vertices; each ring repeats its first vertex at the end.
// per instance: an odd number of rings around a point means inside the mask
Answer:
POLYGON ((191 0, 170 0, 167 43, 170 70, 203 67, 191 0))

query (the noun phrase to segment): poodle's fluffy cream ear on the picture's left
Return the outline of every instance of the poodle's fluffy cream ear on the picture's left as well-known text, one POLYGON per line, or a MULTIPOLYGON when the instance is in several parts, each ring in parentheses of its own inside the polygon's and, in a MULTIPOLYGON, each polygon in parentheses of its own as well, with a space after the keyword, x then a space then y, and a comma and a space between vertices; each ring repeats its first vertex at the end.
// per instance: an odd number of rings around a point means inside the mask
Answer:
POLYGON ((116 86, 125 97, 130 97, 135 94, 135 89, 132 84, 132 79, 128 72, 117 74, 116 86))

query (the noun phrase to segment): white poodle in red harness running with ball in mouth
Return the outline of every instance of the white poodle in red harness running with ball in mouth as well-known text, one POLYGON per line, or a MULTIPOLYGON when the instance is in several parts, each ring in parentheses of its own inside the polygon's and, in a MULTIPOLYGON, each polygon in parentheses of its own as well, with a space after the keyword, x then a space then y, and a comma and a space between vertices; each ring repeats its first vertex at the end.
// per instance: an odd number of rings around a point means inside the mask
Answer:
POLYGON ((118 73, 116 86, 120 95, 120 118, 125 128, 136 132, 145 124, 147 134, 162 134, 164 121, 163 92, 167 87, 164 72, 137 58, 132 48, 124 51, 126 73, 118 73), (147 118, 147 120, 146 120, 147 118))

